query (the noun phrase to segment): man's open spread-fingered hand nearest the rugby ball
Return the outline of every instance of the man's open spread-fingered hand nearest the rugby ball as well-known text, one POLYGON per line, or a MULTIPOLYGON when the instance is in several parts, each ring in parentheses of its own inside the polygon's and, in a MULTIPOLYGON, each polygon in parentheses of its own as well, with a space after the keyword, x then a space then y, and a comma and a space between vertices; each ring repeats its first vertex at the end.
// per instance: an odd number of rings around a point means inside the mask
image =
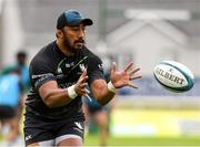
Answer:
POLYGON ((137 85, 132 84, 132 80, 141 78, 141 75, 136 75, 140 70, 139 67, 132 69, 133 63, 130 62, 123 71, 117 71, 116 62, 112 63, 112 69, 110 73, 110 80, 116 88, 121 88, 123 86, 130 86, 132 88, 138 88, 137 85))

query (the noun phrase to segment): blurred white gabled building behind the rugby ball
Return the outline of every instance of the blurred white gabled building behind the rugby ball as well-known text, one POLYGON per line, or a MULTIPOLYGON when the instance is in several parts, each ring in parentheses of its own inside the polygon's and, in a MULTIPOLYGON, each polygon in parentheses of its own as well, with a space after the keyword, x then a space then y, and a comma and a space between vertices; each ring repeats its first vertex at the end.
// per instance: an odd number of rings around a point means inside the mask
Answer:
POLYGON ((200 76, 200 51, 190 49, 188 36, 153 13, 143 13, 108 34, 108 52, 116 54, 120 66, 133 60, 142 75, 152 75, 156 64, 173 60, 186 64, 200 76), (148 19, 146 19, 148 17, 148 19), (150 19, 151 18, 151 19, 150 19))

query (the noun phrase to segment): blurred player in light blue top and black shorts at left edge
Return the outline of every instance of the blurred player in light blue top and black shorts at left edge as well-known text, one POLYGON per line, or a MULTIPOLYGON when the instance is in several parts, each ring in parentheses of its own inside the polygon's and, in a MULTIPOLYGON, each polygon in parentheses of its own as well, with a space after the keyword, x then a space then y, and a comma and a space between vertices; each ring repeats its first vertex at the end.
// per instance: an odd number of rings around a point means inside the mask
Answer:
POLYGON ((19 120, 22 96, 22 84, 20 69, 17 66, 7 67, 0 75, 0 120, 1 135, 8 145, 17 141, 19 133, 19 120), (3 133, 3 130, 7 130, 3 133))

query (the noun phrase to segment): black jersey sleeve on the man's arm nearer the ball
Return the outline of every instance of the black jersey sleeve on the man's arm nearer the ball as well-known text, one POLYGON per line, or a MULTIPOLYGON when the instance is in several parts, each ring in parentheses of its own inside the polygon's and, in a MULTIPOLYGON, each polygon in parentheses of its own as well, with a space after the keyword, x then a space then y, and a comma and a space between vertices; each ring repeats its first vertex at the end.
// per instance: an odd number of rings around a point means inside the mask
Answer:
POLYGON ((102 61, 98 56, 92 56, 91 59, 89 59, 88 75, 89 84, 91 84, 92 81, 98 78, 104 80, 102 61))

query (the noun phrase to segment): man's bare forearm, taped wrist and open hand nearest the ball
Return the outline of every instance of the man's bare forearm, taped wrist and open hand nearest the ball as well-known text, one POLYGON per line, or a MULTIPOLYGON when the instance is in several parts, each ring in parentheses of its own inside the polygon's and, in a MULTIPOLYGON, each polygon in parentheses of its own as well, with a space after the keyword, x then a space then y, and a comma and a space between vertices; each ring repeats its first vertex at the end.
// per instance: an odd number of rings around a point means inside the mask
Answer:
POLYGON ((124 86, 138 88, 138 86, 131 83, 131 81, 141 78, 141 76, 137 74, 140 69, 133 69, 132 65, 133 63, 130 62, 124 67, 124 70, 120 72, 117 70, 117 64, 112 63, 112 69, 110 73, 111 81, 108 84, 104 80, 94 80, 91 83, 91 92, 101 105, 106 105, 112 99, 116 94, 116 88, 121 88, 124 86))

